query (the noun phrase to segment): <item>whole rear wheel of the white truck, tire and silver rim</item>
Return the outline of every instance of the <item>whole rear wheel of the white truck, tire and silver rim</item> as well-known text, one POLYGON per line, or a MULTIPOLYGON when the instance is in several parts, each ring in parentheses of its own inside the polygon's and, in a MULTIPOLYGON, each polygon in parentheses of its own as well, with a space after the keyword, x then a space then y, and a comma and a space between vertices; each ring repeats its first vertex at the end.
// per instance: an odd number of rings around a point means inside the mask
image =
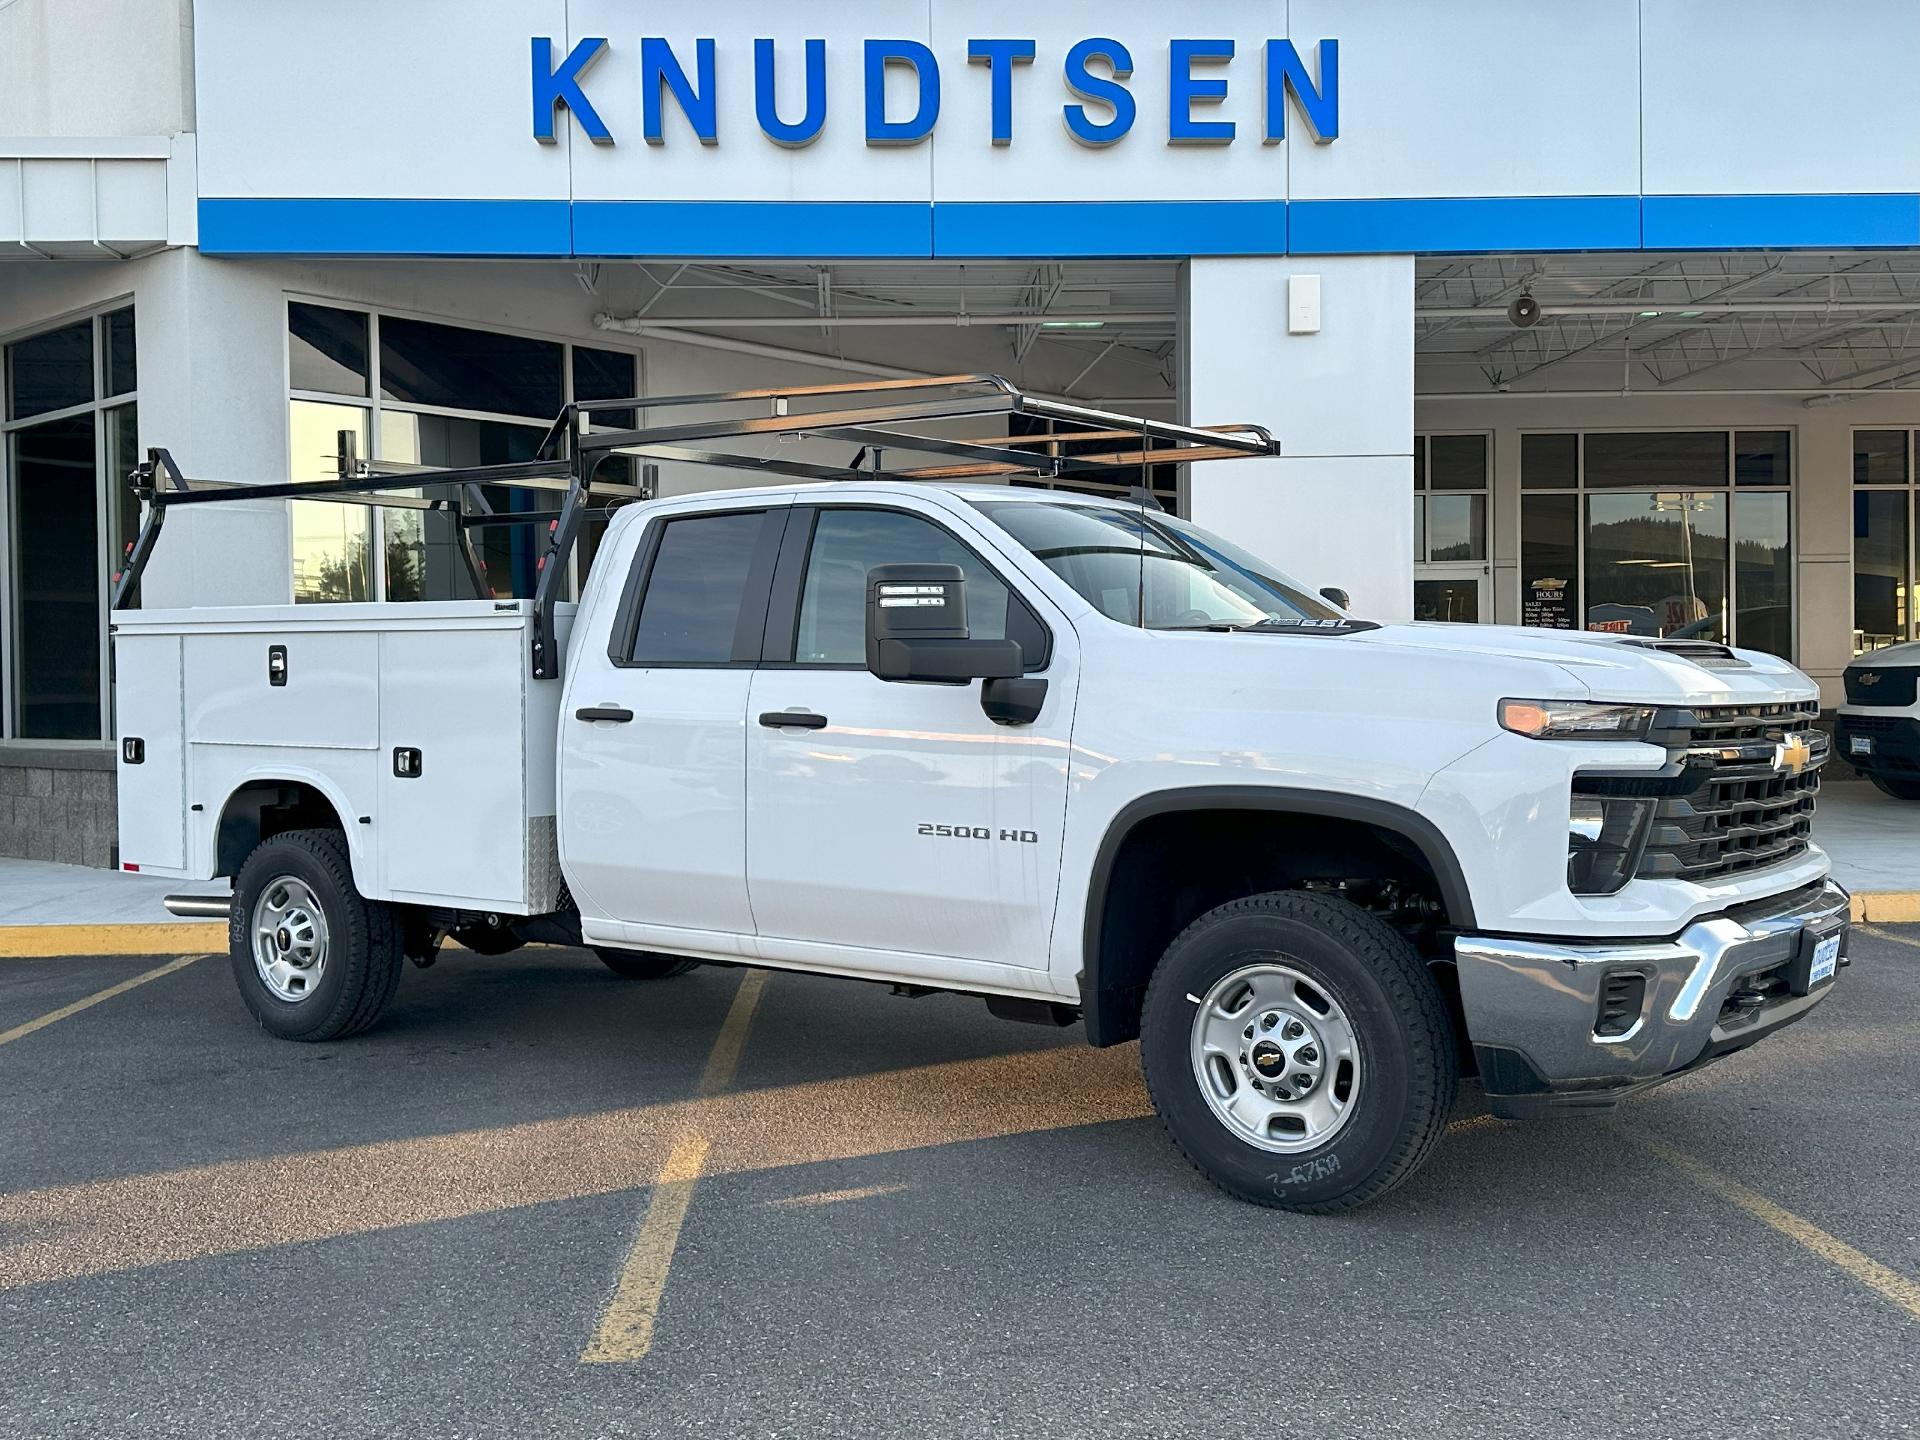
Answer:
POLYGON ((399 987, 394 908, 361 899, 338 829, 290 829, 234 879, 227 931, 240 998, 286 1041, 338 1041, 380 1018, 399 987))

